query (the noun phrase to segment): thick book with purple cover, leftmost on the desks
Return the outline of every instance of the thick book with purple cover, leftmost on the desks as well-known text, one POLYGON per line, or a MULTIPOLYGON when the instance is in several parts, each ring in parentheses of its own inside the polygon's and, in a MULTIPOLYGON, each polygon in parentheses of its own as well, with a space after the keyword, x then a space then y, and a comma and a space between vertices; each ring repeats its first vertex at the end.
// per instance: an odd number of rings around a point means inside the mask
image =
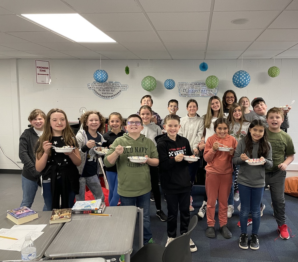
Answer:
POLYGON ((17 225, 24 224, 39 217, 39 214, 27 206, 7 210, 7 218, 17 225))

